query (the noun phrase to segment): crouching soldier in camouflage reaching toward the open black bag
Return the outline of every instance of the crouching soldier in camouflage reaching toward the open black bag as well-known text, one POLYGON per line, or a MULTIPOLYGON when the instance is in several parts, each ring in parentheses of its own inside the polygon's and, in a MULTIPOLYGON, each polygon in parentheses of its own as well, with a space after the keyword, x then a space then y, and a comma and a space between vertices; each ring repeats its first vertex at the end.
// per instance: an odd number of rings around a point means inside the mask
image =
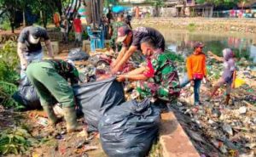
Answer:
POLYGON ((166 103, 174 103, 180 92, 177 70, 172 64, 171 52, 162 52, 155 48, 155 41, 148 36, 141 42, 143 54, 148 57, 147 65, 118 76, 137 82, 137 91, 143 98, 157 98, 166 103))

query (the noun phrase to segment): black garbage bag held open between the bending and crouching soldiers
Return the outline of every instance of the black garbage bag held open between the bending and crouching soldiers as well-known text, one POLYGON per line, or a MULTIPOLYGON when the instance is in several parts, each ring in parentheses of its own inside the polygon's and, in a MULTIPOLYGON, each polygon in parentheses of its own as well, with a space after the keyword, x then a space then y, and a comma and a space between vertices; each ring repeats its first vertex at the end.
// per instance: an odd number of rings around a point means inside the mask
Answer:
POLYGON ((125 102, 122 83, 110 78, 73 87, 76 102, 82 107, 88 131, 96 132, 100 118, 108 109, 125 102))

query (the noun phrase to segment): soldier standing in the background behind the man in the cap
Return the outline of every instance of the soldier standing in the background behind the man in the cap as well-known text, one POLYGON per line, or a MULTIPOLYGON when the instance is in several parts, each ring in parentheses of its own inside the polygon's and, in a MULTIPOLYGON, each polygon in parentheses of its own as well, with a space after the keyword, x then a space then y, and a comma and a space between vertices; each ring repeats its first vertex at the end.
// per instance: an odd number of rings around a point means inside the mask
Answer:
POLYGON ((122 48, 121 42, 116 43, 116 39, 118 37, 118 29, 119 27, 124 25, 127 25, 125 23, 124 14, 119 14, 117 21, 110 24, 109 34, 112 34, 112 36, 111 36, 109 45, 110 45, 110 48, 113 48, 113 50, 117 50, 118 52, 122 48))

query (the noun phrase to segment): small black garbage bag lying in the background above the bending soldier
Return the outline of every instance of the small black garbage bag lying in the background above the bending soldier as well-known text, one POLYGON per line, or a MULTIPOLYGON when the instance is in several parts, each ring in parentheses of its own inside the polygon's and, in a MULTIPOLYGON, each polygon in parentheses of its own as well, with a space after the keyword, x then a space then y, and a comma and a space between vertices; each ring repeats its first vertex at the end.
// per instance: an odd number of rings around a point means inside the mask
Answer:
POLYGON ((84 51, 81 50, 81 48, 73 48, 70 49, 67 59, 70 60, 87 60, 89 59, 90 55, 88 53, 85 53, 84 51))

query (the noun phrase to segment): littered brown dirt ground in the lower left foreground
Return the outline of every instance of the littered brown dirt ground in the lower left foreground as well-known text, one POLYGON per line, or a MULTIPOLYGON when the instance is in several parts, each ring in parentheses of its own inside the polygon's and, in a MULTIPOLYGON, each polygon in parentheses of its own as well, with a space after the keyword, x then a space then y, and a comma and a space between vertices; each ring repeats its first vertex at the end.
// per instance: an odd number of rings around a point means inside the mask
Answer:
MULTIPOLYGON (((102 150, 97 133, 91 133, 88 136, 86 136, 84 131, 67 133, 64 120, 58 123, 54 129, 51 126, 42 125, 41 120, 44 118, 46 118, 46 115, 42 110, 15 112, 13 110, 1 109, 0 131, 15 126, 22 126, 22 128, 26 128, 35 141, 32 148, 26 151, 26 154, 20 154, 18 156, 106 156, 102 150)), ((84 125, 83 120, 82 117, 79 118, 79 124, 84 125)), ((84 125, 85 128, 86 125, 84 125)), ((17 155, 9 154, 7 156, 12 157, 17 155)))

